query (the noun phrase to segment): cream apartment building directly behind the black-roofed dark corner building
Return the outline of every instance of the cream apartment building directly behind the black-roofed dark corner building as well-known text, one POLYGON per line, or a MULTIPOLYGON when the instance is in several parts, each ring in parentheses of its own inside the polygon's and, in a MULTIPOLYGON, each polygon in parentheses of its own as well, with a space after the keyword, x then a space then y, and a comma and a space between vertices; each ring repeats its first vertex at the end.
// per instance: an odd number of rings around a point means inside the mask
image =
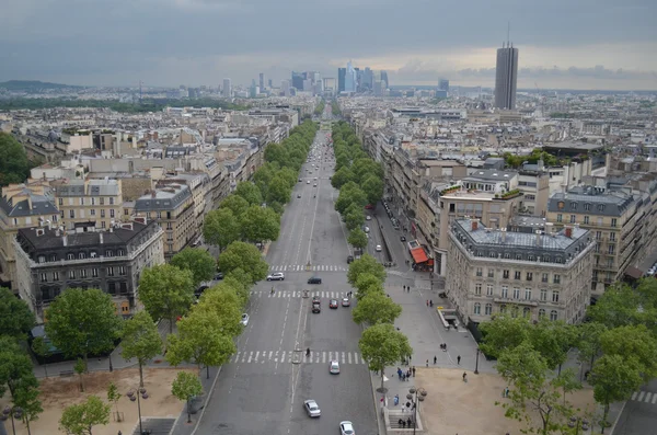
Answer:
POLYGON ((57 180, 50 185, 55 191, 60 225, 68 230, 110 228, 113 221, 124 217, 120 180, 57 180))

